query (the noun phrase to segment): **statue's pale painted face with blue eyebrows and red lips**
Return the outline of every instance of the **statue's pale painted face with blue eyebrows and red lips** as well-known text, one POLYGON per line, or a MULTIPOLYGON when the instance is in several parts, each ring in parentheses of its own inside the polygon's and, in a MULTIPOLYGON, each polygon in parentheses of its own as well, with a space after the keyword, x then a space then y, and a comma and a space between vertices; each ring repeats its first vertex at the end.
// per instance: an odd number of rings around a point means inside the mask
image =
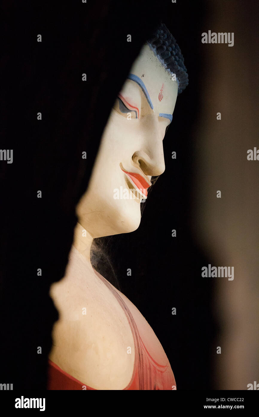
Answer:
POLYGON ((150 178, 165 170, 163 138, 177 93, 177 82, 144 45, 114 103, 76 207, 79 223, 94 238, 138 228, 150 178))

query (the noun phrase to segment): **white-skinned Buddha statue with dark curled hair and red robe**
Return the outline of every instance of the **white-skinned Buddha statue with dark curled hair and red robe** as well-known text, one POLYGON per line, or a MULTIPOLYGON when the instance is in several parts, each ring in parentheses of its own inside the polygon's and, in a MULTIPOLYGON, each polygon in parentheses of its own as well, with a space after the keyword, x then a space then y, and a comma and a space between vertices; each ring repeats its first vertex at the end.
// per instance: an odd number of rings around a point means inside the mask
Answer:
POLYGON ((183 55, 162 23, 132 65, 103 132, 65 276, 50 295, 59 312, 48 389, 176 389, 168 358, 141 312, 91 265, 93 239, 141 221, 152 178, 165 171, 163 138, 188 83, 183 55), (119 191, 119 192, 118 192, 119 191))

